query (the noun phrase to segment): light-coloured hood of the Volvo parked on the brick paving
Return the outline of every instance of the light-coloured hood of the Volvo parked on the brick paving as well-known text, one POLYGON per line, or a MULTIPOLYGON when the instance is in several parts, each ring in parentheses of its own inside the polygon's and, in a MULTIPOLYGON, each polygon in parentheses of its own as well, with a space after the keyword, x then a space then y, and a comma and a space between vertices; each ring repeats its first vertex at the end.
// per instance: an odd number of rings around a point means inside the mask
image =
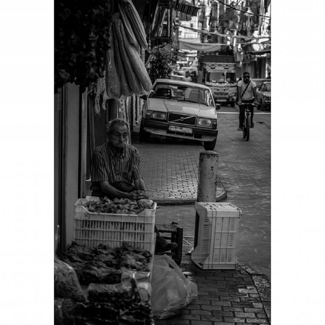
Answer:
POLYGON ((206 118, 215 118, 216 116, 216 110, 214 107, 197 103, 150 98, 149 107, 150 110, 156 110, 159 112, 195 115, 206 118))

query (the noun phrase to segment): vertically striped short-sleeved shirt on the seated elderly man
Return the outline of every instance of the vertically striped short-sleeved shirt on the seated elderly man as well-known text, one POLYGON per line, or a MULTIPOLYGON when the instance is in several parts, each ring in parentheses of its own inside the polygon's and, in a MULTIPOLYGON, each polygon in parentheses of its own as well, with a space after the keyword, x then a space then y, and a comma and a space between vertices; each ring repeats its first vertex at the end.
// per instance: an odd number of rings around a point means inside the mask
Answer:
POLYGON ((138 150, 126 144, 122 153, 106 142, 97 147, 91 159, 91 189, 101 189, 100 182, 126 182, 142 178, 138 150))

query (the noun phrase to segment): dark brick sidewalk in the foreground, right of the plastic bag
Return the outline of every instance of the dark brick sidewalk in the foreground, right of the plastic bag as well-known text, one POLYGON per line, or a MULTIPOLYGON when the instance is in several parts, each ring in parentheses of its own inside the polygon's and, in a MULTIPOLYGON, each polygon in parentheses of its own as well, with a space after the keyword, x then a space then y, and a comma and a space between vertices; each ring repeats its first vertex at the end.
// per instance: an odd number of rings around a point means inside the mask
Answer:
POLYGON ((155 320, 155 325, 271 324, 271 287, 265 275, 244 264, 235 270, 201 270, 185 254, 190 248, 183 245, 180 268, 198 285, 199 295, 179 315, 155 320))

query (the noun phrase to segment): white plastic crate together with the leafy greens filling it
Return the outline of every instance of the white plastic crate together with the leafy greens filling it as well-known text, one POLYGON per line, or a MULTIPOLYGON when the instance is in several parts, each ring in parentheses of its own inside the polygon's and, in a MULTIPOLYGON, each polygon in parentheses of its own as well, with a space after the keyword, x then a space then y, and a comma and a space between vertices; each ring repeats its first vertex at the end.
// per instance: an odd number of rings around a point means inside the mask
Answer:
POLYGON ((123 242, 154 253, 156 203, 151 200, 87 197, 75 203, 74 241, 115 248, 123 242))

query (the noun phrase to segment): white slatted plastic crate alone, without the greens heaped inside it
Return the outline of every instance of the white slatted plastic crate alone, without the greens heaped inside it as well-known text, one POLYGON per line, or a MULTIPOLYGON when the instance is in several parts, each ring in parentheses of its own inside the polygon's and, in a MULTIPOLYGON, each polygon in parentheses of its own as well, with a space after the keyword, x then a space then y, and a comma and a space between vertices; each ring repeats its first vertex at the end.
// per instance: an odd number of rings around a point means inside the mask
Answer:
POLYGON ((75 203, 74 241, 79 245, 95 247, 104 244, 112 248, 123 242, 154 254, 154 222, 157 204, 140 214, 89 212, 82 204, 96 197, 78 199, 75 203))

